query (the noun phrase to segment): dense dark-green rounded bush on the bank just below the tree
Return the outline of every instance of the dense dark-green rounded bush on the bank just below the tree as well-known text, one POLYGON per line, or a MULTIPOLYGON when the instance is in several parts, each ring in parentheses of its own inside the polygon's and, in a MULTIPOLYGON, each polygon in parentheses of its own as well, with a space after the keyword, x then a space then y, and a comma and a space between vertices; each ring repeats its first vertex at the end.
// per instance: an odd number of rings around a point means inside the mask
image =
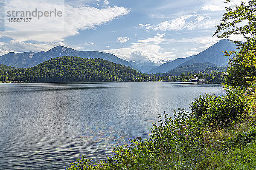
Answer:
POLYGON ((220 127, 245 120, 249 104, 244 88, 226 87, 225 90, 226 96, 205 95, 192 102, 191 109, 195 119, 220 127))

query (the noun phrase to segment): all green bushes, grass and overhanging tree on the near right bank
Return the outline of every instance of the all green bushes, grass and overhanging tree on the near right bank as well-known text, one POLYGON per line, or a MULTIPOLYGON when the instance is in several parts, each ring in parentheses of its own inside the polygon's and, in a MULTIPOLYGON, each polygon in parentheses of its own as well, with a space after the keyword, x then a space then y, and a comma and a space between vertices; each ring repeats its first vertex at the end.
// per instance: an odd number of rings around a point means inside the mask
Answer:
MULTIPOLYGON (((226 0, 230 3, 232 0, 226 0)), ((199 96, 191 113, 174 111, 174 118, 159 114, 149 139, 129 139, 113 148, 106 161, 84 156, 67 170, 255 170, 256 169, 256 0, 226 8, 214 35, 233 41, 240 51, 227 69, 226 96, 199 96), (245 25, 241 24, 247 21, 245 25), (240 24, 240 25, 239 25, 240 24)))

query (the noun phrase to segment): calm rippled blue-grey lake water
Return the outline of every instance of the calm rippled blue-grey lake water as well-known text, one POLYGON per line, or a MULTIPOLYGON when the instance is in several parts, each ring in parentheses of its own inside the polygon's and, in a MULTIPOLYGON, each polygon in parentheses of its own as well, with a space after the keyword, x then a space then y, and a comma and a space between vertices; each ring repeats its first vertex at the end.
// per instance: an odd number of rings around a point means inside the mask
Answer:
POLYGON ((0 84, 0 169, 65 169, 148 138, 157 114, 189 110, 220 85, 183 82, 0 84))

